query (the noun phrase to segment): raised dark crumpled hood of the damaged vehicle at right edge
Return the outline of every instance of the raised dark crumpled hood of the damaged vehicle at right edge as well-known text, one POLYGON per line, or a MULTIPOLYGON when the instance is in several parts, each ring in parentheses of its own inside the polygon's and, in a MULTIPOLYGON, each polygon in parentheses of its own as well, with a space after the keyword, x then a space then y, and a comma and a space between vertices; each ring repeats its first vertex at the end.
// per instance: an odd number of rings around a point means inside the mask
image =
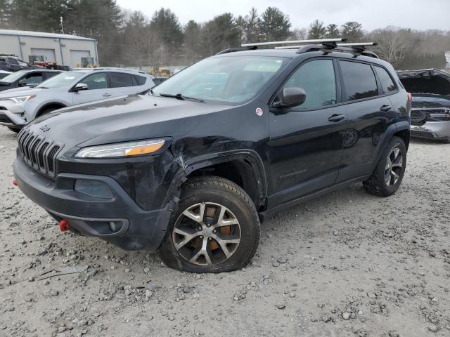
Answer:
POLYGON ((443 70, 401 70, 397 74, 409 93, 450 95, 450 74, 443 70))

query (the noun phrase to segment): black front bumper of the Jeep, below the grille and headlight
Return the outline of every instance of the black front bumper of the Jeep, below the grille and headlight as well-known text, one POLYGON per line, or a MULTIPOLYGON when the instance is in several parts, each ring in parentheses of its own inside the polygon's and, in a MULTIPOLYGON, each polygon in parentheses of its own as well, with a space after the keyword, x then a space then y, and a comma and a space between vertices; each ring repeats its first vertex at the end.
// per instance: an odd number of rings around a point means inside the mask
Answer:
POLYGON ((68 220, 72 231, 99 237, 125 250, 158 249, 165 237, 174 204, 145 211, 122 187, 106 176, 60 173, 55 180, 31 169, 18 156, 13 165, 20 190, 57 220, 68 220), (75 180, 96 180, 107 185, 113 197, 99 199, 74 190, 75 180), (120 223, 113 232, 109 223, 120 223))

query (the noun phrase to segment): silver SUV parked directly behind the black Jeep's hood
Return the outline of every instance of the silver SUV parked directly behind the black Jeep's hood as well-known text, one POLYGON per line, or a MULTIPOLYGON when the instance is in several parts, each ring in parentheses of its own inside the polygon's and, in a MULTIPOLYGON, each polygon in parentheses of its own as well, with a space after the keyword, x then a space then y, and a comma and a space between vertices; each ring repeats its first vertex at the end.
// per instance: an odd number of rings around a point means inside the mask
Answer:
POLYGON ((122 68, 77 68, 34 88, 15 88, 0 94, 0 125, 18 132, 33 119, 62 107, 146 93, 155 84, 150 75, 122 68))

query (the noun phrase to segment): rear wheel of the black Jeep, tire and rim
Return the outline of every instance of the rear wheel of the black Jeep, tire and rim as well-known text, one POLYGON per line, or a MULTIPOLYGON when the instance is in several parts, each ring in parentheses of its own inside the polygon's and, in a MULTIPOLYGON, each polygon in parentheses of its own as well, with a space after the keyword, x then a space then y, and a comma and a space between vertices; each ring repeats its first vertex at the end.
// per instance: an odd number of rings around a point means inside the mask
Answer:
POLYGON ((363 182, 364 188, 379 197, 389 197, 398 190, 405 169, 406 146, 401 138, 394 136, 383 150, 372 175, 363 182))

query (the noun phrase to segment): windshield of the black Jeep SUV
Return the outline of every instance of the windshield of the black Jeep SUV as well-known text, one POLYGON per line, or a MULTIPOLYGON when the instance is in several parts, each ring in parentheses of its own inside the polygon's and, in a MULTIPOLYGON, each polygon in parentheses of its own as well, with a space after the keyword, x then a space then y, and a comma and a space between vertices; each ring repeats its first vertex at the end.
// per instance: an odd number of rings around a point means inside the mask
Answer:
POLYGON ((207 58, 170 77, 153 92, 238 105, 255 97, 288 60, 263 56, 207 58))

